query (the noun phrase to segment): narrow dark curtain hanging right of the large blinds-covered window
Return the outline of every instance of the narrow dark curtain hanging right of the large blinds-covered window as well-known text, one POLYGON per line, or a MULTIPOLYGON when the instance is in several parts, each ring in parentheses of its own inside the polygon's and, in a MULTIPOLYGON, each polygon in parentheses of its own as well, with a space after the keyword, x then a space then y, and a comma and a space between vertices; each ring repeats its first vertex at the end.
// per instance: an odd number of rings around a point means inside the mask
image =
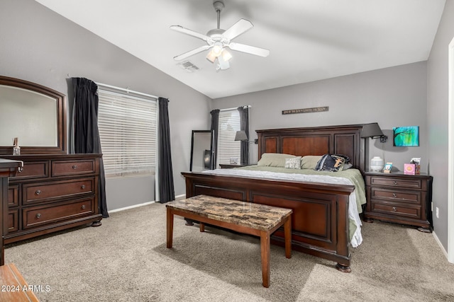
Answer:
POLYGON ((160 203, 175 200, 172 154, 170 152, 169 100, 159 98, 159 195, 160 203))

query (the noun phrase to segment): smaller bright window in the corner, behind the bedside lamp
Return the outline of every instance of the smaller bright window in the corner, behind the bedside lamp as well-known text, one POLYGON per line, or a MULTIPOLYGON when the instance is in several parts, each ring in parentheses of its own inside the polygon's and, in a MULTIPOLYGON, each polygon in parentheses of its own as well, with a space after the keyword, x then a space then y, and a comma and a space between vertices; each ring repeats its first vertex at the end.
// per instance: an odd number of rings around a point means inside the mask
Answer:
POLYGON ((240 131, 240 112, 237 109, 219 112, 218 164, 228 164, 231 158, 237 158, 240 163, 240 141, 235 140, 237 131, 240 131))

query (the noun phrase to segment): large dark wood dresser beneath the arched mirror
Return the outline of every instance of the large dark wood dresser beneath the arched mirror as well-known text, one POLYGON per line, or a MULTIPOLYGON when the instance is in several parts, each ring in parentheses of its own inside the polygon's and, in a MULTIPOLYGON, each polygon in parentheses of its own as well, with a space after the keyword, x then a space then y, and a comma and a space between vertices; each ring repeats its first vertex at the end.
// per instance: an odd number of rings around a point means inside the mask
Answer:
POLYGON ((87 223, 101 224, 101 154, 1 157, 23 161, 23 170, 9 178, 4 244, 87 223))

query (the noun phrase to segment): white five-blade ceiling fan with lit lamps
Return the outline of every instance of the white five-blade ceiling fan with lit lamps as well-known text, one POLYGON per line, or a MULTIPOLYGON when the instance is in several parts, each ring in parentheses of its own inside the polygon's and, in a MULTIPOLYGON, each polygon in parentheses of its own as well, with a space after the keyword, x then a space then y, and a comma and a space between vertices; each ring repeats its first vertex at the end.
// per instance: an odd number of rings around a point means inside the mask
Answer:
POLYGON ((211 63, 214 63, 217 59, 218 65, 216 70, 224 70, 230 67, 228 61, 232 58, 232 54, 228 52, 227 48, 231 50, 236 50, 238 52, 246 52, 248 54, 255 54, 260 57, 267 57, 270 54, 270 50, 265 50, 263 48, 254 47, 250 45, 244 45, 236 42, 231 42, 235 37, 245 33, 246 31, 253 28, 253 23, 245 19, 240 19, 237 23, 233 24, 231 28, 228 30, 223 30, 220 28, 221 24, 221 11, 225 7, 222 0, 216 0, 213 3, 214 10, 218 14, 218 28, 209 30, 206 35, 201 33, 197 33, 194 30, 189 30, 184 28, 180 25, 172 25, 170 29, 176 30, 180 33, 185 33, 187 35, 192 35, 193 37, 197 37, 201 40, 206 42, 206 45, 197 47, 194 50, 189 50, 189 52, 184 52, 183 54, 179 54, 174 57, 175 60, 180 61, 182 59, 186 59, 188 57, 193 56, 194 54, 198 54, 199 52, 203 52, 204 50, 210 50, 206 59, 208 59, 211 63))

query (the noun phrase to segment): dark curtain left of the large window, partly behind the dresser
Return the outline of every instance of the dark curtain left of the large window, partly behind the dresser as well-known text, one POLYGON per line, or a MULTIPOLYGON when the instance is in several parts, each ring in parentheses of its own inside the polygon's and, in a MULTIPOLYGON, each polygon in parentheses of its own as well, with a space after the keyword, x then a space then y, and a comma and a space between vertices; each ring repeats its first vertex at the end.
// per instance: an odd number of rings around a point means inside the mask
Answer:
MULTIPOLYGON (((94 81, 72 78, 74 108, 72 111, 72 135, 74 153, 102 153, 98 130, 98 86, 94 81)), ((99 160, 99 213, 109 217, 106 203, 106 176, 104 163, 99 160)))

